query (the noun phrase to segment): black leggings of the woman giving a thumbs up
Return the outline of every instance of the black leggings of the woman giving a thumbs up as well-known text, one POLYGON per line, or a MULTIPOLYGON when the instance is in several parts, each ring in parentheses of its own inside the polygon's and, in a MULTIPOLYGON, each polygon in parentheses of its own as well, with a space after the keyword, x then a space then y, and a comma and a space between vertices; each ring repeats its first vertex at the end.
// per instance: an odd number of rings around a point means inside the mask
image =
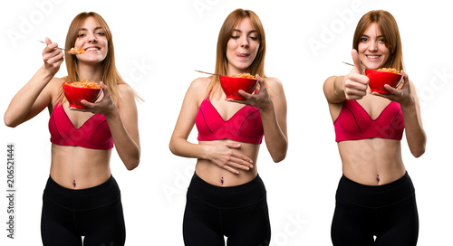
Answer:
POLYGON ((335 246, 416 245, 419 215, 410 176, 406 173, 390 184, 370 186, 343 175, 331 235, 335 246))

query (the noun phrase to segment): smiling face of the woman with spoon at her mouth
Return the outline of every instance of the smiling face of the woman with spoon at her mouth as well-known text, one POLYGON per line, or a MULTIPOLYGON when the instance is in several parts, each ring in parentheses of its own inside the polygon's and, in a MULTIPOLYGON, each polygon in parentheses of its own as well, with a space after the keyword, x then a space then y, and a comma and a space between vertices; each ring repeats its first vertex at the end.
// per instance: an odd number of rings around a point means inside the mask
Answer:
POLYGON ((109 51, 105 31, 92 16, 86 18, 82 24, 74 46, 85 51, 84 54, 77 55, 77 59, 84 62, 104 61, 109 51))

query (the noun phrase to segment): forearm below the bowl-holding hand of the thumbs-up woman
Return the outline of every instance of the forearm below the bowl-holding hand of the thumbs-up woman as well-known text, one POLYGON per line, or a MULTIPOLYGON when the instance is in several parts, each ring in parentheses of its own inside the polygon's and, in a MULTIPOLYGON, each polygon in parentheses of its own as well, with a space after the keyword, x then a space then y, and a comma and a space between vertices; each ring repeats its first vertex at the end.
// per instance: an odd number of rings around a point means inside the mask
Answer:
POLYGON ((419 157, 425 153, 427 137, 421 123, 419 110, 416 103, 412 100, 410 103, 401 105, 406 138, 413 156, 419 157))

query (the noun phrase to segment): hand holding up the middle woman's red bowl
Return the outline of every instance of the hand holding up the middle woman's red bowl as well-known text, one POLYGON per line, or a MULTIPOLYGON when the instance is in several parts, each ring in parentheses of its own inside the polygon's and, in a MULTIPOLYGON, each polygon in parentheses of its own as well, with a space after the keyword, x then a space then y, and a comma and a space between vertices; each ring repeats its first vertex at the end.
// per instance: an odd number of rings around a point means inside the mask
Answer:
POLYGON ((239 90, 239 94, 246 99, 226 99, 227 101, 233 101, 236 103, 246 104, 251 107, 255 107, 261 110, 269 109, 270 107, 274 107, 272 103, 272 99, 267 92, 267 88, 265 87, 265 80, 259 75, 255 75, 256 79, 259 83, 259 91, 256 94, 249 94, 244 90, 239 90))

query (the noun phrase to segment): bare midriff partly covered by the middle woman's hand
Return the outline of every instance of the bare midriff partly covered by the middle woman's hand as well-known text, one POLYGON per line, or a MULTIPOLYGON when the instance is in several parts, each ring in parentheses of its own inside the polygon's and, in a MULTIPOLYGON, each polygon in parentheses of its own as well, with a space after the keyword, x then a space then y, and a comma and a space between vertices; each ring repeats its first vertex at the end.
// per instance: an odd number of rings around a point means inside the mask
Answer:
MULTIPOLYGON (((199 141, 199 145, 216 145, 220 141, 234 142, 228 139, 215 140, 215 141, 199 141)), ((217 186, 236 186, 243 185, 247 182, 252 181, 258 174, 256 169, 256 159, 258 156, 259 145, 240 143, 241 147, 235 148, 237 152, 241 153, 244 156, 247 156, 253 160, 253 168, 250 168, 248 171, 235 168, 239 171, 239 174, 233 174, 227 171, 224 168, 221 168, 207 159, 198 159, 197 166, 195 167, 196 174, 211 185, 217 186)))

